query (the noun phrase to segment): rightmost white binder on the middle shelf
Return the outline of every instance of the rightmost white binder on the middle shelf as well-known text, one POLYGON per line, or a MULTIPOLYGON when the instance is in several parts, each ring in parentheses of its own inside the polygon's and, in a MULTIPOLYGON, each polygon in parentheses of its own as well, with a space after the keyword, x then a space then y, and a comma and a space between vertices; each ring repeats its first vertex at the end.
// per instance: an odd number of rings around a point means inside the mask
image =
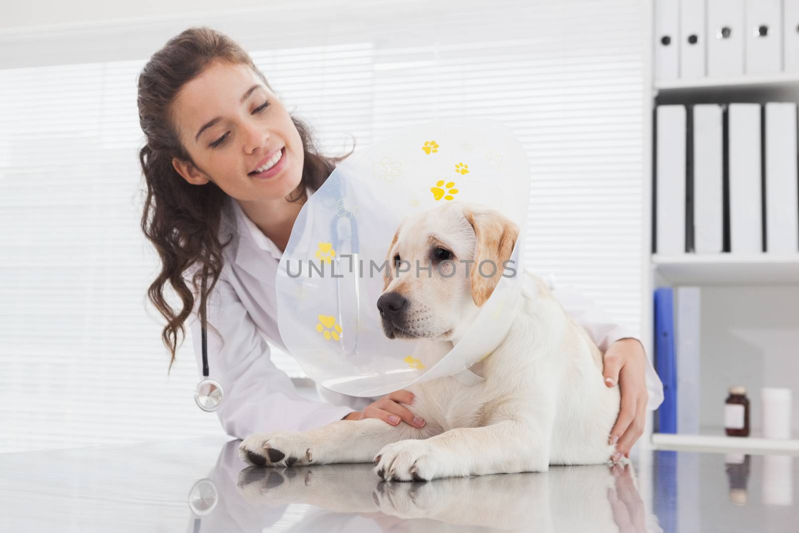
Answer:
POLYGON ((765 238, 768 253, 799 252, 797 105, 765 105, 765 238))

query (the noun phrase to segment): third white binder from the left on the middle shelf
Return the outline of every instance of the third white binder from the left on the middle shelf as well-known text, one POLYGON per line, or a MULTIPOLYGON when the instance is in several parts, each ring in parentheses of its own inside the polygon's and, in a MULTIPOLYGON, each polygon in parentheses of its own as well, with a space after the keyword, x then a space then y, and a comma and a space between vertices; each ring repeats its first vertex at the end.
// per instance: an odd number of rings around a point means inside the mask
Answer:
POLYGON ((729 251, 763 251, 760 104, 730 104, 729 251))

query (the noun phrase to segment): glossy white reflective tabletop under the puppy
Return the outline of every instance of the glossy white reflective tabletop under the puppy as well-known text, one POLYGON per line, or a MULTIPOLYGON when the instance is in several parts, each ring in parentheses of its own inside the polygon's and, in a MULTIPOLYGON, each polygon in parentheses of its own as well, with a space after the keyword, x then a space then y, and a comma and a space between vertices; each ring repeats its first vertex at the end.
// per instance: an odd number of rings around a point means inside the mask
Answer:
POLYGON ((0 455, 0 531, 799 531, 799 457, 384 483, 371 464, 247 467, 238 443, 0 455))

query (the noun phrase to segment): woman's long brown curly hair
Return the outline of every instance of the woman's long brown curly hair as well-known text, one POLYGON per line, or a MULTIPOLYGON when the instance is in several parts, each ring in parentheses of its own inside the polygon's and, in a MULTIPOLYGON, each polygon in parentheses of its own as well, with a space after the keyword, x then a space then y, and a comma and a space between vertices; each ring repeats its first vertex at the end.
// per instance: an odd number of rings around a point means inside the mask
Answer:
MULTIPOLYGON (((185 338, 183 324, 194 306, 194 294, 183 274, 196 266, 191 279, 194 291, 201 295, 200 320, 205 323, 205 300, 219 279, 222 249, 230 243, 229 240, 222 244, 218 235, 228 195, 212 181, 205 185, 189 184, 172 165, 173 157, 193 161, 177 136, 170 115, 171 105, 181 87, 214 61, 249 66, 272 89, 246 50, 232 38, 208 27, 189 28, 169 39, 153 54, 138 77, 139 123, 146 137, 146 144, 139 152, 145 181, 141 230, 161 257, 161 272, 150 284, 147 294, 167 321, 161 340, 171 354, 169 369, 175 362, 177 332, 185 338), (200 289, 198 277, 201 277, 200 289), (207 287, 209 278, 211 284, 207 287), (181 299, 179 310, 165 300, 167 282, 181 299)), ((286 200, 300 201, 306 199, 306 187, 314 191, 319 189, 336 163, 349 154, 324 157, 316 149, 308 125, 296 117, 292 117, 292 121, 302 139, 304 158, 300 185, 294 191, 296 197, 291 198, 290 194, 286 200)))

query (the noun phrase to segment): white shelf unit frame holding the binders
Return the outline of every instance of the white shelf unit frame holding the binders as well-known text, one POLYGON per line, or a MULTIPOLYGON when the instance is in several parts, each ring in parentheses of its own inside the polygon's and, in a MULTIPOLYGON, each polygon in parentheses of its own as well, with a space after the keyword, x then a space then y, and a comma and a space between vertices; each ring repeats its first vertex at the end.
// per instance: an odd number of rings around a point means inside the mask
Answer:
MULTIPOLYGON (((654 107, 658 103, 677 103, 695 101, 705 103, 718 98, 720 102, 735 101, 739 96, 746 98, 760 95, 759 101, 772 98, 783 100, 791 94, 791 101, 799 96, 799 74, 780 73, 769 75, 741 75, 729 78, 699 78, 656 82, 654 80, 654 6, 652 0, 646 2, 645 16, 647 30, 642 32, 646 41, 645 76, 651 82, 645 84, 643 122, 645 157, 642 199, 644 209, 644 235, 642 255, 644 257, 644 280, 642 291, 642 339, 650 357, 654 358, 654 309, 652 298, 655 288, 674 285, 799 285, 799 253, 780 255, 762 253, 741 255, 720 253, 717 255, 686 253, 678 256, 663 256, 650 253, 652 236, 653 161, 654 161, 654 107)), ((720 402, 723 398, 720 400, 720 402)), ((722 428, 705 428, 698 435, 663 434, 653 431, 652 417, 646 424, 646 436, 640 446, 654 450, 685 450, 737 453, 777 453, 799 455, 799 436, 792 440, 771 440, 753 435, 746 438, 727 437, 722 428)))

